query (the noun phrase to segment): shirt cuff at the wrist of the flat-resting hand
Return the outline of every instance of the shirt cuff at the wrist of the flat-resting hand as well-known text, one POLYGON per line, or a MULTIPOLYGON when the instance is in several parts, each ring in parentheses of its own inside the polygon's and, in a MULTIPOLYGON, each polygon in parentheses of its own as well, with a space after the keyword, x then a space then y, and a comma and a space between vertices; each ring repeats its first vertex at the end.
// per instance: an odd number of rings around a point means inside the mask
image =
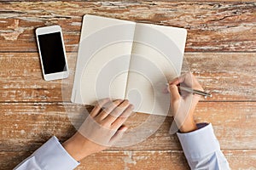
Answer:
POLYGON ((36 150, 32 156, 35 157, 39 166, 43 167, 43 169, 62 170, 79 166, 79 161, 74 160, 67 153, 67 150, 63 148, 55 136, 36 150))

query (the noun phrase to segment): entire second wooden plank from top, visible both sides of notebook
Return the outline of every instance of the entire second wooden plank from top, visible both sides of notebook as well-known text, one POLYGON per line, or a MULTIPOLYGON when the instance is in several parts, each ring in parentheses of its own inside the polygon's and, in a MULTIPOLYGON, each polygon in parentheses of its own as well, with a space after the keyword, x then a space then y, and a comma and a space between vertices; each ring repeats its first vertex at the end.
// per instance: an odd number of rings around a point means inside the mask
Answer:
MULTIPOLYGON (((70 101, 77 54, 67 54, 68 79, 43 80, 36 53, 0 53, 0 101, 70 101), (63 96, 61 95, 63 88, 63 96)), ((206 91, 206 101, 256 100, 256 54, 187 53, 185 58, 206 91)))

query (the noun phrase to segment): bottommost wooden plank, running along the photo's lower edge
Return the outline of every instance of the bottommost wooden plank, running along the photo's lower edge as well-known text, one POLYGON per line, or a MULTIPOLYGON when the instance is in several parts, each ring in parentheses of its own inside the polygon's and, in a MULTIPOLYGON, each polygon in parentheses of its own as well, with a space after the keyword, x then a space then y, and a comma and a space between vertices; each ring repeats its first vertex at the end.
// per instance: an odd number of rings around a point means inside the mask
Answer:
MULTIPOLYGON (((0 169, 15 167, 31 152, 0 151, 0 169)), ((224 150, 231 169, 255 169, 255 150, 224 150)), ((76 169, 189 169, 179 150, 102 151, 86 157, 76 169)))

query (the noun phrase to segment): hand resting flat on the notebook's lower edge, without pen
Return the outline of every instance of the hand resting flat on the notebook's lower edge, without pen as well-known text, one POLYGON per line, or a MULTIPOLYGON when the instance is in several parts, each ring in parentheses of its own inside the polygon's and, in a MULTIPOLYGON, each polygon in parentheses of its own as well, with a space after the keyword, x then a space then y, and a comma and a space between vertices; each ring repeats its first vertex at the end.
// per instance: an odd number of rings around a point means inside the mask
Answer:
POLYGON ((107 149, 127 130, 123 123, 133 108, 126 99, 102 99, 87 116, 79 132, 64 142, 63 147, 77 161, 107 149))

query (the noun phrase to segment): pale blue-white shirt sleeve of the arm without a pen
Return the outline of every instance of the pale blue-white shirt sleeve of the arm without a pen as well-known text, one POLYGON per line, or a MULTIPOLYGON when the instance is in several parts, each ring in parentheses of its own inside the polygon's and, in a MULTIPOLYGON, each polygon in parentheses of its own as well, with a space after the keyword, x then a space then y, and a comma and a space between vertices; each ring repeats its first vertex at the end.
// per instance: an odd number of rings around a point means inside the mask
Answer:
POLYGON ((73 159, 53 136, 31 156, 22 161, 15 169, 44 169, 44 170, 70 170, 79 165, 79 161, 73 159))

